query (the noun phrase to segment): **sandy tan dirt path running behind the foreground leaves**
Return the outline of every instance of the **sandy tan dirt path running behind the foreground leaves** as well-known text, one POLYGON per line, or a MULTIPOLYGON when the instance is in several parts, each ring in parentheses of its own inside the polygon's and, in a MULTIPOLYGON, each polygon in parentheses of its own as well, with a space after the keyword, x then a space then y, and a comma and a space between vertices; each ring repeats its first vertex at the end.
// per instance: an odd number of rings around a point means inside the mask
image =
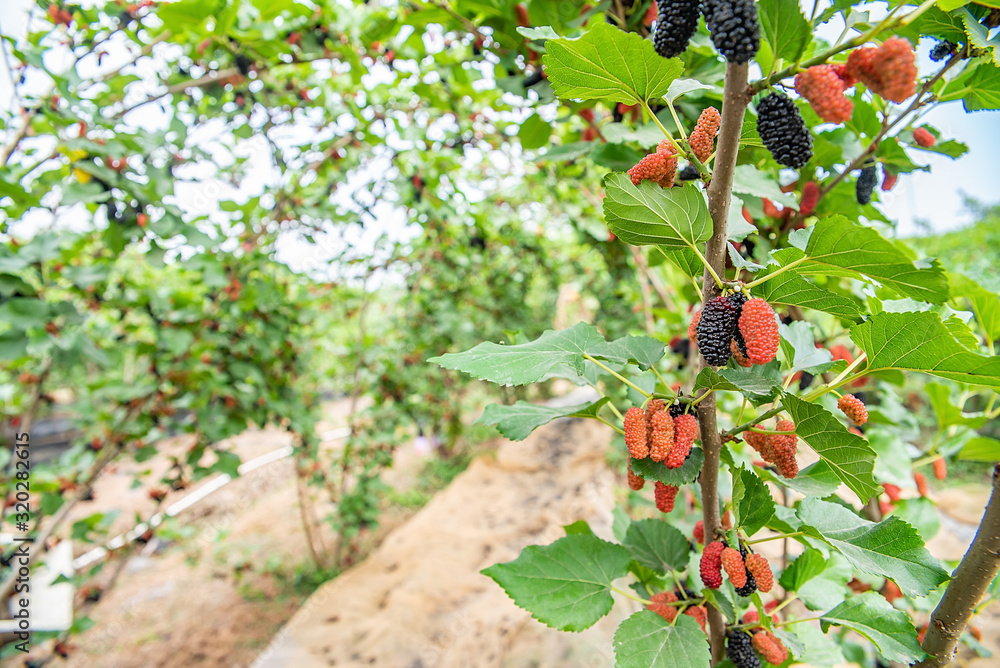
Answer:
POLYGON ((479 574, 579 519, 611 537, 610 433, 560 420, 477 459, 364 563, 313 594, 255 667, 611 665, 614 629, 632 607, 562 633, 479 574))

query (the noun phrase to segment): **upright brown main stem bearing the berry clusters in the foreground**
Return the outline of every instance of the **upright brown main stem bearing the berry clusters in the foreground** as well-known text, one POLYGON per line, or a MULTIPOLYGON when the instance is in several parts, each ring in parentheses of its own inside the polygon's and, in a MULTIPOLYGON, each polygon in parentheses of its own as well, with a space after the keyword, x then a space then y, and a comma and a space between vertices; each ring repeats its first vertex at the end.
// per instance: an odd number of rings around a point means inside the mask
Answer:
MULTIPOLYGON (((732 200, 733 174, 736 156, 740 147, 740 132, 743 129, 743 115, 750 102, 747 87, 747 65, 726 63, 726 83, 722 97, 722 126, 719 129, 718 150, 715 170, 708 186, 708 211, 712 216, 712 238, 705 248, 705 273, 702 278, 702 301, 719 294, 715 273, 722 275, 726 270, 726 229, 729 220, 729 204, 732 200)), ((702 360, 704 365, 704 360, 702 360)), ((705 540, 721 531, 719 520, 719 456, 722 452, 722 438, 716 420, 715 394, 705 397, 698 404, 698 424, 701 427, 701 444, 705 451, 705 465, 701 470, 702 519, 705 524, 705 540)), ((726 622, 715 606, 708 606, 708 622, 711 627, 709 638, 712 642, 712 663, 722 660, 725 653, 726 622)))

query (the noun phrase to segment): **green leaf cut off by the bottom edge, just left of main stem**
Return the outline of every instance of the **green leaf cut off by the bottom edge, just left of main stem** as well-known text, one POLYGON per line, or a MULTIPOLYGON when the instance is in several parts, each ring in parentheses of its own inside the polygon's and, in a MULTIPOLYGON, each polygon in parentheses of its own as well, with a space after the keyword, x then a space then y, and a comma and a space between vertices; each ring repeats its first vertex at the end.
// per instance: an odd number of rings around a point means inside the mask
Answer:
POLYGON ((615 631, 615 668, 707 668, 708 638, 690 615, 671 625, 651 610, 640 610, 615 631))

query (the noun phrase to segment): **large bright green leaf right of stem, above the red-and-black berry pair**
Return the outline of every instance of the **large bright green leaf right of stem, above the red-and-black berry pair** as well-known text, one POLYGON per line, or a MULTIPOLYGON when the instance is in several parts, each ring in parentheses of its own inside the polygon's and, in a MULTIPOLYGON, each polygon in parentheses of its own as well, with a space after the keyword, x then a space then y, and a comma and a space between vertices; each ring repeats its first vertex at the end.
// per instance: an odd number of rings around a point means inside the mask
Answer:
MULTIPOLYGON (((948 299, 948 281, 936 263, 918 268, 898 246, 870 227, 844 216, 822 218, 812 230, 805 249, 802 273, 863 274, 907 296, 940 304, 948 299)), ((781 251, 782 264, 800 260, 797 249, 781 251)))

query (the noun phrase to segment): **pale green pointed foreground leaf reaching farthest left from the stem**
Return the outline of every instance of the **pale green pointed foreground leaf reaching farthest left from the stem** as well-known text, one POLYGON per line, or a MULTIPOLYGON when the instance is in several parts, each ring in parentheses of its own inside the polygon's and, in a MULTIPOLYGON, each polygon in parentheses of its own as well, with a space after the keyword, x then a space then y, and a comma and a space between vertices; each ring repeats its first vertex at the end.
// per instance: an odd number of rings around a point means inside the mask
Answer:
POLYGON ((427 361, 498 385, 527 385, 560 364, 583 374, 583 353, 601 343, 605 343, 604 337, 597 329, 581 322, 561 331, 546 330, 530 343, 504 346, 484 341, 471 350, 427 361))

